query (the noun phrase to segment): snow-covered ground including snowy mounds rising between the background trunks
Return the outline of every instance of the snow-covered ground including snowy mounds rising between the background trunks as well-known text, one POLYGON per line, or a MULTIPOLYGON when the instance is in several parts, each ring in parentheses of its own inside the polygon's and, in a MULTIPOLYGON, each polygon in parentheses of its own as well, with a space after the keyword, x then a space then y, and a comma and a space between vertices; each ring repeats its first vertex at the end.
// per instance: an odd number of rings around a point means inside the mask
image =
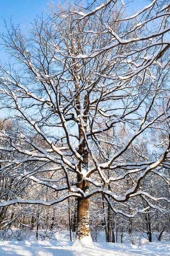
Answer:
MULTIPOLYGON (((56 231, 51 240, 35 239, 35 230, 24 236, 22 230, 12 229, 15 236, 12 238, 8 231, 6 239, 12 241, 0 241, 0 256, 170 256, 170 233, 164 232, 163 241, 157 240, 157 233, 153 233, 153 242, 149 243, 144 236, 134 236, 135 243, 132 245, 127 233, 124 233, 123 243, 106 243, 105 233, 99 232, 97 242, 92 243, 91 239, 85 239, 84 244, 69 241, 70 236, 67 230, 56 231), (20 232, 19 232, 20 231, 20 232), (22 241, 18 241, 19 238, 22 241)), ((3 239, 3 232, 0 232, 0 239, 3 239)), ((47 238, 46 238, 47 239, 47 238)), ((75 233, 72 233, 75 239, 75 233)), ((118 239, 120 241, 120 239, 118 239)))

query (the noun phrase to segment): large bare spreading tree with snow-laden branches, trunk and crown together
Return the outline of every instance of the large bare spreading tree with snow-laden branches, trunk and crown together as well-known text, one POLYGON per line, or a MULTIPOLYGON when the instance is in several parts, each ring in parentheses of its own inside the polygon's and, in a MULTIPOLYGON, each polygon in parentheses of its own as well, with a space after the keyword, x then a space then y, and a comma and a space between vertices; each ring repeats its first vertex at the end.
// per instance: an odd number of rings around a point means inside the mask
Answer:
POLYGON ((23 156, 1 160, 3 170, 16 169, 20 180, 46 186, 54 197, 22 196, 0 207, 77 198, 79 239, 90 236, 89 198, 96 194, 127 217, 150 207, 167 212, 164 202, 170 202, 142 190, 151 172, 169 184, 161 172, 170 165, 170 4, 154 0, 132 16, 119 1, 89 8, 50 6, 47 18, 31 23, 28 37, 11 23, 2 35, 10 64, 0 65, 0 108, 25 127, 17 136, 1 129, 6 146, 0 150, 23 156), (159 157, 136 149, 144 141, 150 147, 154 133, 164 129, 159 157), (111 145, 109 158, 103 143, 111 145), (147 207, 136 204, 137 198, 147 207))

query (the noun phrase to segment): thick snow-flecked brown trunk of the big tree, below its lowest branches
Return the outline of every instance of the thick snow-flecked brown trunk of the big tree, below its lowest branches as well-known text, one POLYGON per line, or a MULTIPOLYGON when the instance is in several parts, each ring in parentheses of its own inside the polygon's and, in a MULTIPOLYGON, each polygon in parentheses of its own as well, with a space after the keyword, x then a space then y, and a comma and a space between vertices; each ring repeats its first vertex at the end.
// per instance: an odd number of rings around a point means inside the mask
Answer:
POLYGON ((77 200, 77 237, 90 236, 89 199, 77 200))

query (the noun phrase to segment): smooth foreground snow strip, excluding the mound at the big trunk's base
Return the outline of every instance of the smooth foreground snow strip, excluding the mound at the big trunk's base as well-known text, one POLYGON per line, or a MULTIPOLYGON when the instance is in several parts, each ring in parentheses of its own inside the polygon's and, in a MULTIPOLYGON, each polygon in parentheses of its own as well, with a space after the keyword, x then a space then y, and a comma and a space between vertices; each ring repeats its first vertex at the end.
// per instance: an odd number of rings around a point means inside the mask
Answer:
POLYGON ((0 241, 0 256, 169 256, 170 241, 141 246, 94 243, 94 247, 74 247, 69 241, 0 241))

